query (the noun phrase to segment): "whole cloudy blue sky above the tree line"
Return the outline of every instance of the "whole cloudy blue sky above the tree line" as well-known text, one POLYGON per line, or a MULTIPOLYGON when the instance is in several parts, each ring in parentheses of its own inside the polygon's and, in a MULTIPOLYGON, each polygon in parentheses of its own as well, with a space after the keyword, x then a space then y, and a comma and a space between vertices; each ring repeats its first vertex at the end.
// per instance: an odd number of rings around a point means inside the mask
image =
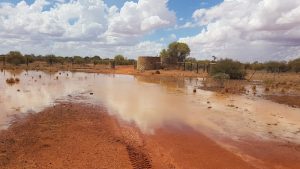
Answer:
POLYGON ((0 0, 0 53, 190 57, 244 62, 300 57, 299 0, 0 0))

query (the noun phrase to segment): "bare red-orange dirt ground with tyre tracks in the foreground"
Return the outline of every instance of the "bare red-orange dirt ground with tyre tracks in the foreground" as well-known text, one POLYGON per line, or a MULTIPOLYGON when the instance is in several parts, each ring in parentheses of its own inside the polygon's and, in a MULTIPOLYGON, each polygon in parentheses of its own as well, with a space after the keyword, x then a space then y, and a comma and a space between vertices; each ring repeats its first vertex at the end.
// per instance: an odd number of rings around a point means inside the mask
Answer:
POLYGON ((252 168, 201 134, 143 135, 105 109, 63 103, 0 133, 0 168, 252 168))

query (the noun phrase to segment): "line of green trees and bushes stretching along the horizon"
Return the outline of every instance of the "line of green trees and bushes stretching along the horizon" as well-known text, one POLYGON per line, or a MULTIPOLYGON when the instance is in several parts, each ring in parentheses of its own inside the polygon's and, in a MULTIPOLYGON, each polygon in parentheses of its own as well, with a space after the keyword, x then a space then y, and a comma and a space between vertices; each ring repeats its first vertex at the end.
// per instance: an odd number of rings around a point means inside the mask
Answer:
MULTIPOLYGON (((242 63, 237 60, 232 59, 219 59, 213 56, 213 60, 197 60, 193 57, 188 57, 190 55, 190 48, 187 44, 181 42, 172 42, 168 45, 167 49, 163 49, 160 52, 159 57, 161 58, 162 65, 177 65, 178 63, 197 63, 200 66, 209 66, 209 73, 212 75, 224 74, 230 79, 244 79, 247 70, 254 71, 266 71, 270 73, 282 73, 282 72, 300 72, 300 58, 290 60, 290 61, 267 61, 253 63, 242 63), (212 66, 213 65, 213 66, 212 66)), ((63 57, 56 55, 23 55, 18 51, 11 51, 6 55, 0 55, 0 61, 9 63, 12 65, 29 64, 36 61, 47 62, 48 64, 110 64, 115 65, 135 65, 135 59, 127 59, 123 55, 116 55, 113 59, 101 58, 100 56, 93 57, 63 57)))

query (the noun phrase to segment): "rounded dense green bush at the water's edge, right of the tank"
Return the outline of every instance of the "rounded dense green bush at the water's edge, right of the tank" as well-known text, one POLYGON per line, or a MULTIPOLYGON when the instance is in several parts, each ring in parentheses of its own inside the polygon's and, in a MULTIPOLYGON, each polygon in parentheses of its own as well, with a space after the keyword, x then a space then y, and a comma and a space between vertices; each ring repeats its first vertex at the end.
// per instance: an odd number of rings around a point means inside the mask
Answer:
POLYGON ((244 79, 246 76, 243 64, 231 59, 221 59, 216 64, 211 65, 210 74, 214 76, 219 73, 229 75, 230 79, 244 79))

